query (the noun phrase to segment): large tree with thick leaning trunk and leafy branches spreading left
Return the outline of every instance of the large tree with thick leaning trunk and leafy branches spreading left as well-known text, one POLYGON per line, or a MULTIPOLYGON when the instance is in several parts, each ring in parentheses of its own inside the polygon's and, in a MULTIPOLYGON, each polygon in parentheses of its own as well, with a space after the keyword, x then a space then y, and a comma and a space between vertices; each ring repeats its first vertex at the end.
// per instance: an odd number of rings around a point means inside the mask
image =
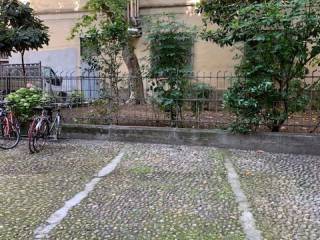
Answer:
POLYGON ((136 104, 140 104, 145 102, 144 88, 134 52, 134 38, 128 31, 131 22, 127 16, 127 4, 127 0, 89 0, 84 7, 88 14, 75 25, 72 37, 83 37, 84 47, 96 52, 95 56, 85 54, 84 59, 107 75, 118 71, 121 54, 129 71, 129 84, 133 85, 133 98, 136 104))

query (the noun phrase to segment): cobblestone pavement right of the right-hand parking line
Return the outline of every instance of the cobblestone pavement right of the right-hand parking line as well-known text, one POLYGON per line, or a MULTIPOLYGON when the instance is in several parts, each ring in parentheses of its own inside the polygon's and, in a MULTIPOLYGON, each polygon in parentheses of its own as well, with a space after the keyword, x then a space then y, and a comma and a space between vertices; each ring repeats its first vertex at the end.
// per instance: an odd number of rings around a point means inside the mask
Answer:
POLYGON ((320 157, 232 153, 265 239, 320 239, 320 157))

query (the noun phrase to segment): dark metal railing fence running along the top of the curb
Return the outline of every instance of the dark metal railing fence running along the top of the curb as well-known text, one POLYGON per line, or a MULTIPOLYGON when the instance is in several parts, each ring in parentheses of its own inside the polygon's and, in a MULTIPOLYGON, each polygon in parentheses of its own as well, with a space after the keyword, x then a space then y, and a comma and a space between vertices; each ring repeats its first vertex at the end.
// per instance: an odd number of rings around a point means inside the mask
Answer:
MULTIPOLYGON (((27 78, 26 81, 21 77, 3 78, 12 86, 4 94, 16 91, 26 82, 41 87, 62 107, 67 123, 226 129, 236 119, 223 106, 223 95, 236 78, 229 72, 190 73, 187 89, 202 83, 205 90, 195 94, 187 90, 183 98, 173 100, 170 108, 159 105, 155 94, 149 90, 152 80, 147 78, 143 78, 145 99, 139 99, 144 100, 144 104, 135 104, 130 98, 133 83, 125 75, 120 76, 117 82, 117 96, 110 78, 102 75, 64 75, 59 78, 62 79, 61 84, 52 84, 50 79, 43 78, 27 78)), ((319 72, 314 71, 305 81, 312 83, 319 78, 319 72)), ((3 90, 1 86, 0 82, 0 90, 3 90)), ((319 92, 310 91, 310 99, 305 111, 289 116, 281 131, 320 133, 319 92)), ((261 130, 267 129, 261 127, 261 130)))

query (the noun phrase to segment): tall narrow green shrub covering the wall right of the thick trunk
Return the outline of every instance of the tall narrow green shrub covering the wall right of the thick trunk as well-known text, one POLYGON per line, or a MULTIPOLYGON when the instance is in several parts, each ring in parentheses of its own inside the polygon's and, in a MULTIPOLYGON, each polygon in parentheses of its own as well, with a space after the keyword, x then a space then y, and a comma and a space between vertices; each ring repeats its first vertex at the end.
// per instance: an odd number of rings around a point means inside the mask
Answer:
POLYGON ((173 16, 163 15, 148 20, 147 33, 151 90, 159 107, 176 120, 187 94, 187 74, 192 69, 190 59, 196 31, 173 16))

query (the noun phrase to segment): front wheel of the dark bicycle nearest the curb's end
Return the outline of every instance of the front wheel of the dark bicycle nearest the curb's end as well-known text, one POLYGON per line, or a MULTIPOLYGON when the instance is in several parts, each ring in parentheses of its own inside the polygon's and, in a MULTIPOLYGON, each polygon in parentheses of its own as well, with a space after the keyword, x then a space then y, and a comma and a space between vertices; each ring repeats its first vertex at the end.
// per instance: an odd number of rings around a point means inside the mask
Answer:
POLYGON ((40 126, 36 126, 36 134, 33 136, 33 141, 32 141, 32 145, 33 145, 33 149, 35 152, 40 152, 41 150, 43 150, 44 146, 47 144, 48 142, 48 138, 49 138, 49 121, 47 120, 42 120, 41 123, 37 123, 41 124, 40 126))

